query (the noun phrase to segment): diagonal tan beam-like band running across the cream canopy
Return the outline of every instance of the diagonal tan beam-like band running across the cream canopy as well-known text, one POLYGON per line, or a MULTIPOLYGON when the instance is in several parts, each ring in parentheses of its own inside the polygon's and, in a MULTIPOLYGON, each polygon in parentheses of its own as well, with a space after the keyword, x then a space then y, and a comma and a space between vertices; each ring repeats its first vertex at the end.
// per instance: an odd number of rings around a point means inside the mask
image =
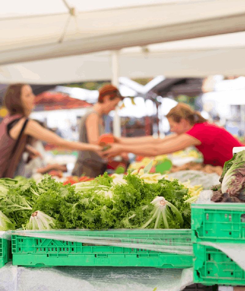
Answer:
POLYGON ((53 59, 70 55, 89 54, 97 51, 119 50, 124 47, 145 46, 175 40, 214 36, 245 31, 245 13, 226 17, 201 19, 175 25, 164 25, 156 28, 127 31, 120 34, 108 34, 93 38, 69 40, 63 43, 50 43, 48 46, 33 46, 21 50, 7 50, 0 54, 0 66, 16 62, 30 62, 53 59), (127 42, 125 42, 127 39, 127 42), (83 47, 81 49, 81 47, 83 47), (43 48, 45 50, 43 51, 43 48), (71 49, 72 48, 72 49, 71 49), (13 56, 13 52, 16 55, 13 56), (9 53, 11 52, 11 57, 9 53))

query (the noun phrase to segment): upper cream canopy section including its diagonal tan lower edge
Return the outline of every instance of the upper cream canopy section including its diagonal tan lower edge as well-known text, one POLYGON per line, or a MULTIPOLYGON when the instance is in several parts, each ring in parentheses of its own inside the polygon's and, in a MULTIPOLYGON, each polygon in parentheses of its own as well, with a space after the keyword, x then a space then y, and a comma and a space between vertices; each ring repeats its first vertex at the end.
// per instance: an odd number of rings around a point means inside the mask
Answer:
POLYGON ((10 0, 0 19, 3 65, 244 31, 245 2, 10 0))

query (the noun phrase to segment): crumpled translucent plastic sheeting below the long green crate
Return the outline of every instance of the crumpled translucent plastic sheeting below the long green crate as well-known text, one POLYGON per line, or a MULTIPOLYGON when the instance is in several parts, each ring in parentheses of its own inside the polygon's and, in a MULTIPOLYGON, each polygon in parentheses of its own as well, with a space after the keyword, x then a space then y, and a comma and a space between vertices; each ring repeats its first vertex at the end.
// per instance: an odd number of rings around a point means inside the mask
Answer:
POLYGON ((192 268, 30 268, 9 262, 0 269, 1 291, 180 291, 192 283, 192 268))

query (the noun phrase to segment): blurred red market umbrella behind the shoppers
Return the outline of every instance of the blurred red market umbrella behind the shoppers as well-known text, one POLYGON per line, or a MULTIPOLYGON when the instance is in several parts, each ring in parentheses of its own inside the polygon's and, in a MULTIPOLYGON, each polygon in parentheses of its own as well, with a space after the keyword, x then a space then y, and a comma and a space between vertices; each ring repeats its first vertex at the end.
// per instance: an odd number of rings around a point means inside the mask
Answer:
POLYGON ((71 109, 91 107, 92 104, 84 100, 70 97, 66 93, 43 92, 36 96, 36 106, 43 106, 44 110, 71 109))

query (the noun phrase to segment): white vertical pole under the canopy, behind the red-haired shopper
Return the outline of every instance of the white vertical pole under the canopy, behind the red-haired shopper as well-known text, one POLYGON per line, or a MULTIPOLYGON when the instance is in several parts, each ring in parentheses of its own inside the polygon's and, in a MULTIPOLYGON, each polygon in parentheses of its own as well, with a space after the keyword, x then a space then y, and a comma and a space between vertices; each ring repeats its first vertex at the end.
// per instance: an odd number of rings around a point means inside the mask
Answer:
MULTIPOLYGON (((111 69, 112 69, 112 78, 111 83, 115 87, 119 87, 118 78, 120 74, 120 65, 119 65, 119 51, 112 51, 111 55, 111 69)), ((118 114, 119 107, 115 109, 115 115, 113 117, 113 134, 115 137, 121 136, 121 119, 118 114)))

